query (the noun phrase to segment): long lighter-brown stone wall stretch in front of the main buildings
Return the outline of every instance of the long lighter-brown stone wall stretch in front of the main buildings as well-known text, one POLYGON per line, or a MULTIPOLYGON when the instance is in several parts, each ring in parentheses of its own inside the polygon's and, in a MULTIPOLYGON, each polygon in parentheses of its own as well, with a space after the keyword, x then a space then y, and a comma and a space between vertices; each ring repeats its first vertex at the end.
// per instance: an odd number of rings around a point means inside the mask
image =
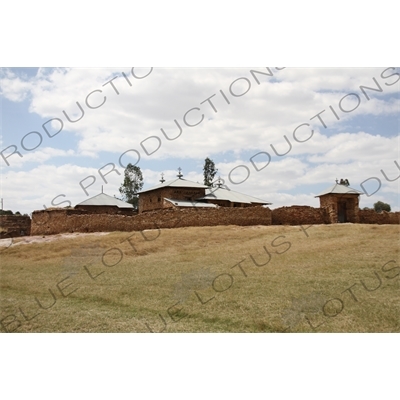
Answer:
POLYGON ((271 225, 271 210, 264 207, 165 209, 133 216, 94 215, 80 210, 41 210, 32 214, 31 232, 32 235, 54 235, 217 225, 271 225))

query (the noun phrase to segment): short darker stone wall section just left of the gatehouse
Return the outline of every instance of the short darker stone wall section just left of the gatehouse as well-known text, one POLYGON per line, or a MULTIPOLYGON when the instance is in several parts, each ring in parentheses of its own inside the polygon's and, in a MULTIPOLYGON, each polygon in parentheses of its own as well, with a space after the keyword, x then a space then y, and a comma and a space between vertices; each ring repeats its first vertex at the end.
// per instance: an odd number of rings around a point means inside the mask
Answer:
POLYGON ((329 223, 329 215, 324 208, 291 206, 272 210, 272 225, 318 225, 327 223, 329 223))

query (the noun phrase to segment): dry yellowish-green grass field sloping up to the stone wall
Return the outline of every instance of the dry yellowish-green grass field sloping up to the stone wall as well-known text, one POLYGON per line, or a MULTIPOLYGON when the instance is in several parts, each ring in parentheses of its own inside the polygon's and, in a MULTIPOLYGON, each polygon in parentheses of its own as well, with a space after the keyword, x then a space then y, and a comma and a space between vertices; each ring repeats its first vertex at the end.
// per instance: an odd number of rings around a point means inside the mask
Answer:
POLYGON ((220 226, 0 248, 3 332, 399 332, 398 225, 220 226))

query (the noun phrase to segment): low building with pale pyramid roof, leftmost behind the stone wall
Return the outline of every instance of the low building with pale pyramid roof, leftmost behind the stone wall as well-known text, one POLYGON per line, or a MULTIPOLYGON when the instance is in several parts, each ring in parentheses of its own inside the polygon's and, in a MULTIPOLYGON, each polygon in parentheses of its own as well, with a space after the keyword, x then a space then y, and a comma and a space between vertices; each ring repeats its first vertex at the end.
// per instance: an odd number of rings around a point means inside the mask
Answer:
POLYGON ((75 206, 76 210, 86 211, 91 214, 132 214, 134 207, 130 203, 100 193, 75 206))

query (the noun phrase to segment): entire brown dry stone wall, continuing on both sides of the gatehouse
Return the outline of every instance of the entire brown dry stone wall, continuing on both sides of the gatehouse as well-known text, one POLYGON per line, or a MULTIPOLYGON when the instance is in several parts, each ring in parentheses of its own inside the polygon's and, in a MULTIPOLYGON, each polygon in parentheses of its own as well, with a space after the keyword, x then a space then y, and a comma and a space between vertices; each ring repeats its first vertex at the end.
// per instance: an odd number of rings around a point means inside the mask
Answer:
MULTIPOLYGON (((364 224, 400 223, 400 212, 376 213, 374 210, 360 210, 358 216, 360 223, 364 224)), ((28 217, 26 218, 29 220, 28 217)), ((133 215, 93 214, 83 210, 58 209, 35 211, 32 214, 31 234, 130 232, 185 226, 319 225, 329 223, 331 221, 327 208, 309 206, 280 207, 272 211, 264 207, 168 208, 133 215)))

